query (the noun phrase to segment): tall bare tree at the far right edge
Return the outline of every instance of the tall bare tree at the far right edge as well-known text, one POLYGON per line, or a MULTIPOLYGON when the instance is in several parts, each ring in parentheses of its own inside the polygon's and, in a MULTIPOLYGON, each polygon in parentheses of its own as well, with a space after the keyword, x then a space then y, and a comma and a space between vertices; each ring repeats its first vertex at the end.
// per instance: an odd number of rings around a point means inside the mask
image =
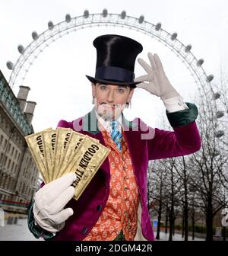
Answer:
POLYGON ((228 160, 227 149, 222 138, 223 131, 218 130, 220 122, 217 118, 217 104, 214 94, 204 94, 198 103, 198 127, 201 133, 201 150, 190 156, 192 162, 192 186, 198 190, 202 210, 206 217, 208 241, 213 240, 214 216, 226 206, 221 194, 227 190, 225 166, 228 160), (214 96, 213 96, 214 97, 214 96))

